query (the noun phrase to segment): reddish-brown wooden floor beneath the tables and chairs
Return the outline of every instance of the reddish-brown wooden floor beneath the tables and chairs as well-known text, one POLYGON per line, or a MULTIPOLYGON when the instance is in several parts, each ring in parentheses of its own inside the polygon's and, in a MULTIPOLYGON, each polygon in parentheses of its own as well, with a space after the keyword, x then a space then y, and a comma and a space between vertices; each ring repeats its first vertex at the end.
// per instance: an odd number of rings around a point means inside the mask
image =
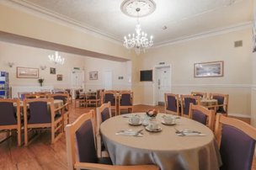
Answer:
MULTIPOLYGON (((138 105, 135 112, 145 112, 152 109, 151 106, 138 105)), ((156 107, 154 107, 156 108, 156 107)), ((157 107, 163 112, 163 107, 157 107)), ((72 105, 71 122, 77 119, 80 114, 88 112, 86 108, 74 108, 72 105)), ((248 120, 246 120, 248 122, 248 120)), ((2 135, 3 137, 3 135, 2 135)), ((0 135, 1 139, 1 135, 0 135)), ((256 170, 256 158, 254 158, 253 170, 256 170)), ((51 134, 47 130, 35 139, 29 146, 17 146, 16 138, 10 137, 7 141, 0 143, 0 169, 67 169, 67 152, 65 135, 61 136, 59 141, 51 145, 51 134)))

